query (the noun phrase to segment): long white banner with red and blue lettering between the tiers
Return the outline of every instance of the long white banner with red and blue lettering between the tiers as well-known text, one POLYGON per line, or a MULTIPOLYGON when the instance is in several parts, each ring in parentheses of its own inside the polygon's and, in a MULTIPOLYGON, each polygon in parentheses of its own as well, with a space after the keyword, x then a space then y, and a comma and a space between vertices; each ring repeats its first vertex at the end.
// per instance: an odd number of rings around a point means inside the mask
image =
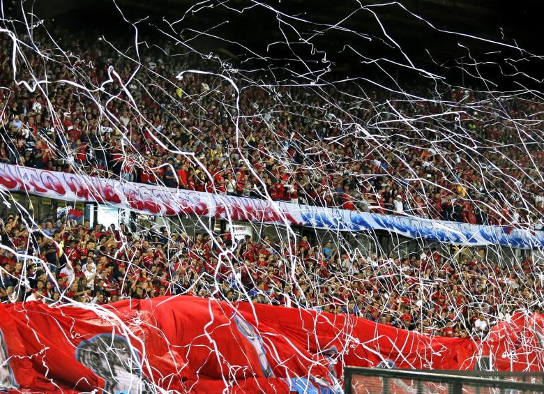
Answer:
POLYGON ((385 230, 409 238, 475 246, 504 245, 529 249, 544 244, 542 231, 507 230, 501 226, 467 225, 213 195, 6 164, 0 164, 0 186, 10 192, 27 192, 75 202, 109 203, 153 215, 189 214, 340 231, 385 230))

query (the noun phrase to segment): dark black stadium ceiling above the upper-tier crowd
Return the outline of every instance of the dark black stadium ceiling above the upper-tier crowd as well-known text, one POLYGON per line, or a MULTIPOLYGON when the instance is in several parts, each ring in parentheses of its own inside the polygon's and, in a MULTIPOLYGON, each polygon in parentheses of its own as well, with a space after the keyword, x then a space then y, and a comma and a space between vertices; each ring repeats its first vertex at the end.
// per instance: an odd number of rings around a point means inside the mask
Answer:
MULTIPOLYGON (((446 70, 458 64, 461 58, 469 63, 469 56, 490 63, 509 56, 529 58, 531 56, 527 54, 520 55, 515 47, 532 53, 541 50, 543 4, 544 0, 404 0, 398 3, 376 0, 116 0, 123 15, 133 22, 146 18, 145 22, 165 26, 164 20, 181 20, 176 24, 178 33, 185 39, 194 37, 192 45, 204 53, 222 49, 243 59, 251 50, 281 58, 289 57, 292 48, 296 48, 308 56, 305 59, 315 56, 316 61, 320 61, 317 54, 310 53, 310 45, 302 43, 301 38, 311 36, 315 49, 326 51, 327 59, 334 62, 333 68, 347 72, 356 71, 365 60, 388 59, 406 64, 404 54, 416 67, 436 69, 445 65, 446 70), (363 7, 365 9, 361 9, 363 7), (440 31, 411 13, 420 15, 440 31), (326 24, 338 24, 342 29, 323 29, 317 33, 318 25, 326 24), (209 31, 210 34, 197 35, 196 31, 209 31), (292 43, 291 47, 285 44, 284 33, 292 43), (212 36, 220 36, 222 40, 212 36), (511 48, 490 41, 511 45, 511 48)), ((92 15, 99 24, 103 18, 121 19, 112 0, 36 0, 33 12, 44 19, 74 13, 92 15)), ((538 59, 532 61, 534 64, 538 59)), ((542 61, 538 67, 542 68, 542 61)), ((504 70, 500 68, 497 73, 504 73, 504 70)))

